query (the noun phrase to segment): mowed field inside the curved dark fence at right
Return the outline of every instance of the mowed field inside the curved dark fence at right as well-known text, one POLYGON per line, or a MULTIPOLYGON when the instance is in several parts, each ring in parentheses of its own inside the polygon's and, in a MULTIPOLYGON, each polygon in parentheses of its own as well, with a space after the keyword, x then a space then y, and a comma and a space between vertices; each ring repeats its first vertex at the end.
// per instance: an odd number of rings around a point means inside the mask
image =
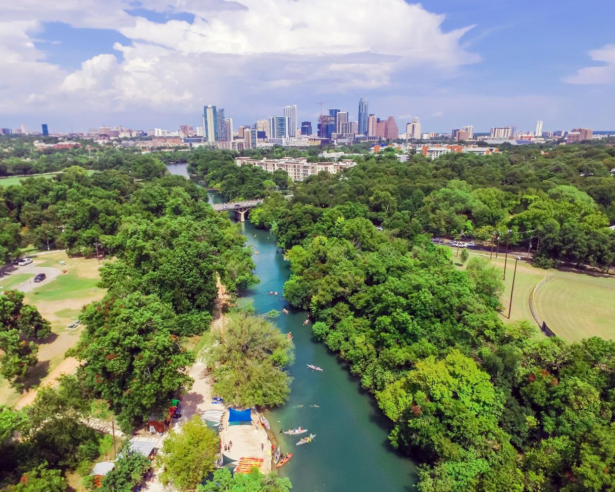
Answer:
POLYGON ((541 317, 563 339, 615 339, 615 279, 549 271, 534 302, 541 317))

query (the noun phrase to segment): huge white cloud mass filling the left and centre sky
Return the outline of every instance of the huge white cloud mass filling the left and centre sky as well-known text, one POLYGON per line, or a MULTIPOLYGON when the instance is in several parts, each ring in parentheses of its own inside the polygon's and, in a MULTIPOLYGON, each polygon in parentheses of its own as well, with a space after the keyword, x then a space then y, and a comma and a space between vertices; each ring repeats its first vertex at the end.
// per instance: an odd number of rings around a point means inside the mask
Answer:
POLYGON ((376 89, 417 68, 422 76, 450 76, 480 60, 460 47, 470 27, 444 32, 443 15, 403 0, 152 0, 141 6, 188 12, 194 22, 133 17, 127 12, 135 8, 132 0, 108 0, 104 9, 95 0, 21 0, 3 7, 0 50, 10 68, 0 81, 0 112, 70 113, 89 104, 109 111, 194 111, 232 98, 249 105, 280 90, 376 89), (66 73, 45 62, 33 44, 41 23, 52 21, 116 30, 130 42, 113 47, 122 58, 97 54, 66 73))

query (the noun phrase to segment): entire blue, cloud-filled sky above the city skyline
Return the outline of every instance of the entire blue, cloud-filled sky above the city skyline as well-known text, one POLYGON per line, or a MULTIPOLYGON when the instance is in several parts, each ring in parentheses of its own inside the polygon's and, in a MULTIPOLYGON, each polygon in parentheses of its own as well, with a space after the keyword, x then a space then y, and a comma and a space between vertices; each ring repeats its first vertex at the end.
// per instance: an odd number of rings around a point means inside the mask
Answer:
POLYGON ((615 129, 615 1, 18 0, 0 15, 0 126, 234 127, 298 105, 424 132, 615 129))

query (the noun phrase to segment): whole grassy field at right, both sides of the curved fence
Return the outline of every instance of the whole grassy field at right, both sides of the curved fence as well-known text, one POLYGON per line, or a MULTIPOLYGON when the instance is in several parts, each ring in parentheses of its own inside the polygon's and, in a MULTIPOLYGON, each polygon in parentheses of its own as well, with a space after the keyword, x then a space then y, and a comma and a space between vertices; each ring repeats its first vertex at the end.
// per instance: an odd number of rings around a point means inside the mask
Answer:
MULTIPOLYGON (((489 260, 489 253, 469 251, 470 258, 482 256, 489 260)), ((525 255, 517 263, 515 290, 513 293, 510 321, 528 320, 534 326, 530 311, 530 295, 536 284, 544 278, 543 269, 526 263, 525 255)), ((453 261, 459 260, 454 257, 453 261)), ((490 260, 491 264, 504 271, 504 257, 490 260)), ((502 320, 507 319, 510 303, 510 287, 515 266, 515 256, 509 255, 501 296, 502 320)), ((465 267, 464 267, 465 268, 465 267)), ((595 277, 582 272, 548 270, 547 282, 534 295, 539 313, 549 327, 567 341, 578 341, 589 336, 615 339, 615 277, 595 277)))

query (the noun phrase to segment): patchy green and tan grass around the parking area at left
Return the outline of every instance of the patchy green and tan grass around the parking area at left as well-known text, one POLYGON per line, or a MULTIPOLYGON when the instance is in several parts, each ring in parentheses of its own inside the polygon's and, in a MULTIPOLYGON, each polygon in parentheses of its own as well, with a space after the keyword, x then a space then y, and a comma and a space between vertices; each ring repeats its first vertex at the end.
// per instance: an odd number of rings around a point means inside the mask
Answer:
MULTIPOLYGON (((24 302, 36 306, 42 316, 49 320, 52 328, 52 336, 46 343, 39 345, 39 363, 31 370, 26 388, 41 383, 42 379, 65 359, 66 351, 77 344, 83 329, 80 326, 77 330, 68 330, 66 325, 79 317, 83 306, 100 300, 105 295, 104 289, 96 287, 99 276, 98 262, 95 259, 69 258, 65 252, 57 252, 40 255, 34 258, 34 263, 37 266, 67 272, 51 280, 49 284, 26 293, 24 302), (64 264, 60 264, 60 261, 64 264)), ((14 287, 29 277, 30 274, 17 274, 2 282, 2 287, 11 287, 9 282, 14 287)), ((0 405, 14 405, 21 397, 22 395, 9 387, 7 381, 0 378, 0 405)))

